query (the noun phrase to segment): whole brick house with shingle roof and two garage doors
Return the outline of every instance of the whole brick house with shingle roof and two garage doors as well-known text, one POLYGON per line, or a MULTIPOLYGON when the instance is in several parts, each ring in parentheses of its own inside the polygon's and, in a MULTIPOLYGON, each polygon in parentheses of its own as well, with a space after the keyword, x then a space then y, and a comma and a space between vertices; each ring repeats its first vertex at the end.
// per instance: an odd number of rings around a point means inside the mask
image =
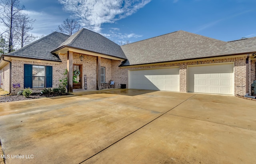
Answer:
POLYGON ((101 89, 112 79, 129 89, 253 95, 255 53, 256 37, 225 42, 177 31, 119 46, 87 29, 72 36, 53 32, 1 55, 0 80, 12 94, 26 87, 39 92, 58 87, 68 69, 68 92, 101 89))

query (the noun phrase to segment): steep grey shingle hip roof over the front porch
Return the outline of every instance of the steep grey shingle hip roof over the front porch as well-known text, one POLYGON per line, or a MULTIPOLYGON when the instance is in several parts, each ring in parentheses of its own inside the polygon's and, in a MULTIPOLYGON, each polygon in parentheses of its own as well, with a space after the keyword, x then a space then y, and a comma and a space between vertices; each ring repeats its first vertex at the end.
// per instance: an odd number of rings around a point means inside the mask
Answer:
POLYGON ((63 46, 74 47, 86 51, 126 59, 120 45, 96 32, 87 30, 85 28, 82 28, 80 31, 76 32, 76 34, 70 36, 70 38, 60 44, 56 49, 60 49, 63 46))

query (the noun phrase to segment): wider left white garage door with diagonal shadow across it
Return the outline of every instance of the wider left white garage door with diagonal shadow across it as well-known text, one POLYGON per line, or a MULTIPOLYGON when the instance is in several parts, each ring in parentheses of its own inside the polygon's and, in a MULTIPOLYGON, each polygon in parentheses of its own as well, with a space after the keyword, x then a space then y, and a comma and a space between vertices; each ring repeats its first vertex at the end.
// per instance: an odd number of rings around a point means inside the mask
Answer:
POLYGON ((129 88, 180 91, 179 67, 130 70, 129 88))

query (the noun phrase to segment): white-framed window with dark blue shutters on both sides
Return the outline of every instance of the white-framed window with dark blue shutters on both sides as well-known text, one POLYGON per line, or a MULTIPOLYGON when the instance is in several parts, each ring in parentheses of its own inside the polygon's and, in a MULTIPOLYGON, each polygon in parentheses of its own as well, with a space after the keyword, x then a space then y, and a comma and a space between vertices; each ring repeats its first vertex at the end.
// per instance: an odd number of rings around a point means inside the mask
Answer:
POLYGON ((52 66, 24 64, 24 88, 52 87, 52 66))

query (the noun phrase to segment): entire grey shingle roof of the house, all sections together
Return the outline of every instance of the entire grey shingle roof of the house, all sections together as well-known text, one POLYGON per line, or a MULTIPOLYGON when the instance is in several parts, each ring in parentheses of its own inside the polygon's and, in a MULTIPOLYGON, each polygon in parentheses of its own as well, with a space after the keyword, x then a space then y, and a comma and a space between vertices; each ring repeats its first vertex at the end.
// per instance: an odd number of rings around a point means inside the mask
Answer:
POLYGON ((61 61, 58 55, 51 52, 65 46, 128 59, 122 64, 125 66, 256 52, 256 37, 225 42, 181 30, 119 46, 104 36, 83 28, 72 36, 53 32, 6 55, 61 61))

